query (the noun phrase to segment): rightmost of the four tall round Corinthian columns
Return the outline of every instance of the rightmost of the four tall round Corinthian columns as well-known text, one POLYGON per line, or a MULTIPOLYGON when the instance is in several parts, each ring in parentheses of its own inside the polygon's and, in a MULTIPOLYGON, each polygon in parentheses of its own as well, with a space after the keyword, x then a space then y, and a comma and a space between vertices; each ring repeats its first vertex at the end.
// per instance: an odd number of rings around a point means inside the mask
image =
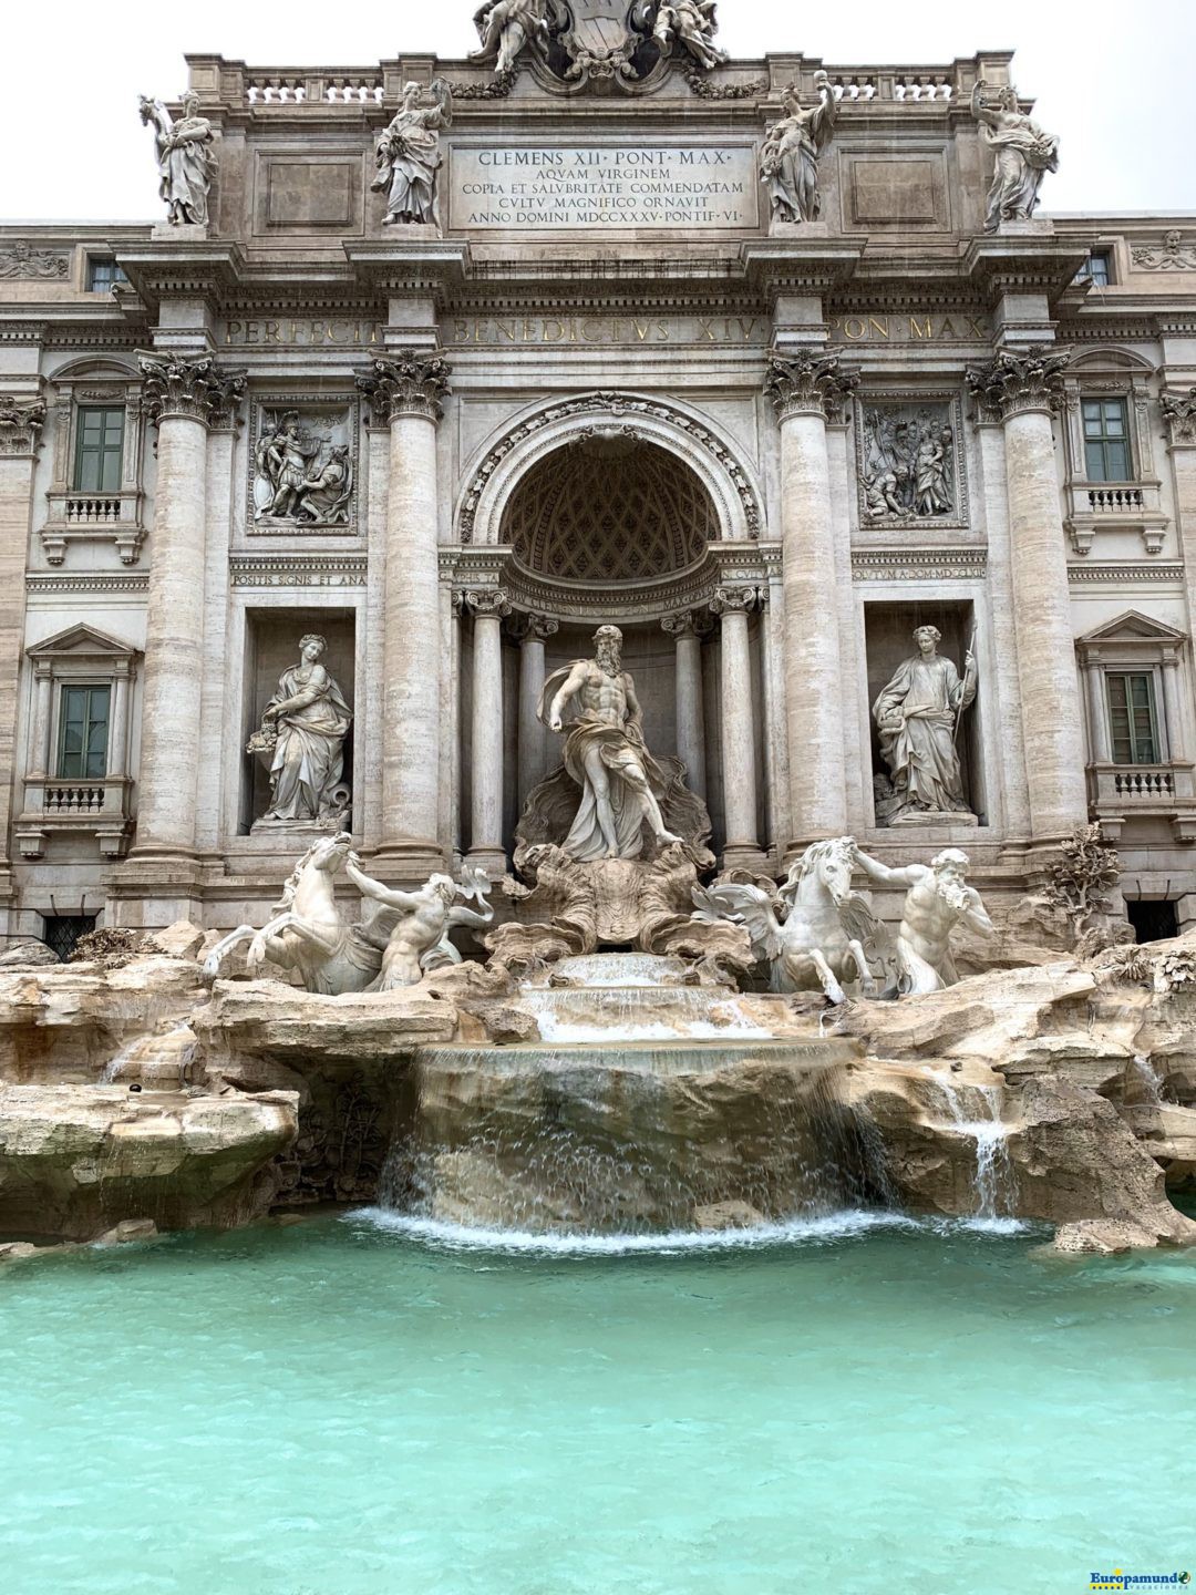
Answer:
POLYGON ((1057 842, 1088 818, 1067 545, 1051 412, 1062 404, 1065 349, 1001 349, 966 373, 1005 431, 1013 624, 1017 641, 1030 837, 1057 842))

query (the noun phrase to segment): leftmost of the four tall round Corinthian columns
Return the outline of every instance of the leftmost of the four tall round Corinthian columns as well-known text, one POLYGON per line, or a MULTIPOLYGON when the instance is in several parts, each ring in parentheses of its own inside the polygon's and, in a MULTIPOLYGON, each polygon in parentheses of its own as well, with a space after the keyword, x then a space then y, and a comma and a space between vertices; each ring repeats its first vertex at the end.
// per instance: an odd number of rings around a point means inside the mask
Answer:
POLYGON ((204 679, 207 429, 246 391, 209 354, 142 356, 145 410, 158 427, 150 533, 142 750, 132 858, 195 857, 196 742, 204 679))

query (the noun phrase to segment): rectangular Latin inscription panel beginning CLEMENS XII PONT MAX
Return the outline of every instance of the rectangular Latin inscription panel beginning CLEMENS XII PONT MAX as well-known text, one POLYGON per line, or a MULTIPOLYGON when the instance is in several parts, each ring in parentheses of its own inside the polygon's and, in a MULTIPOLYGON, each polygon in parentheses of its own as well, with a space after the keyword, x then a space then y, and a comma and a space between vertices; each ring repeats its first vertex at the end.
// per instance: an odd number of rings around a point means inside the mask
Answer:
POLYGON ((759 226, 754 144, 454 144, 448 187, 470 231, 759 226))

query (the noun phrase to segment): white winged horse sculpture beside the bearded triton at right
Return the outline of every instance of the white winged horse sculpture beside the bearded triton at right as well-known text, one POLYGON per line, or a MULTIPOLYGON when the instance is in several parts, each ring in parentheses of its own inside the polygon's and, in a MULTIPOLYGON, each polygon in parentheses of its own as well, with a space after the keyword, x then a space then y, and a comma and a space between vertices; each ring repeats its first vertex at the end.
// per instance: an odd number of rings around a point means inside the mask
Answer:
POLYGON ((837 836, 813 842, 769 893, 742 880, 716 880, 694 892, 698 920, 730 919, 751 936, 751 949, 769 963, 773 990, 823 990, 847 1002, 842 983, 860 981, 866 995, 875 983, 864 954, 882 928, 872 909, 852 890, 855 842, 837 836))

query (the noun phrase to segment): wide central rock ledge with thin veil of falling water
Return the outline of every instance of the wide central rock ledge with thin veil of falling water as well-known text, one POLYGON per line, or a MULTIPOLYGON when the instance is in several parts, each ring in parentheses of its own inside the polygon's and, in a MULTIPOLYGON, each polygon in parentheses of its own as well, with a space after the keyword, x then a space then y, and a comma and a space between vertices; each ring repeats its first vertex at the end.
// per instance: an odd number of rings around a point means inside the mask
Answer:
POLYGON ((842 1038, 419 1048, 383 1199, 478 1228, 694 1228, 861 1198, 842 1038))

